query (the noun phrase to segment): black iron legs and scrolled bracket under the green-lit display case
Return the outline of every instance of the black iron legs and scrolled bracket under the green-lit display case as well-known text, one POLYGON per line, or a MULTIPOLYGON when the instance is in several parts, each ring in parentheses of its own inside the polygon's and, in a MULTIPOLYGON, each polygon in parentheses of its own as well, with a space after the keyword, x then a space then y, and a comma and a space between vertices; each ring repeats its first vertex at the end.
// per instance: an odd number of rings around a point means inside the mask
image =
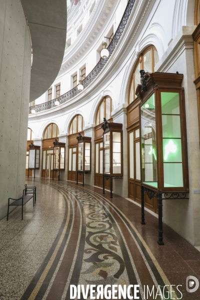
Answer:
POLYGON ((186 197, 185 192, 157 192, 153 189, 147 188, 146 186, 141 185, 141 224, 145 225, 145 218, 144 218, 144 192, 146 192, 149 199, 152 197, 157 198, 157 206, 158 206, 158 245, 163 245, 163 230, 162 230, 162 200, 167 199, 189 199, 186 197), (155 195, 156 194, 156 195, 155 195), (163 195, 163 196, 162 196, 163 195))

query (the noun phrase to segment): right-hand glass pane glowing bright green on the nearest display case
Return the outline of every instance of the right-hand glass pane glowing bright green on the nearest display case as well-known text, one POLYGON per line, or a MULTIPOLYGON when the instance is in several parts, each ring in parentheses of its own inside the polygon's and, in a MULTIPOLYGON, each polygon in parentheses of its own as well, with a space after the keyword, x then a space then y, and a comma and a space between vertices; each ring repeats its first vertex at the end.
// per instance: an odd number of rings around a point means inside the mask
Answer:
POLYGON ((164 187, 182 187, 179 93, 161 92, 164 187))

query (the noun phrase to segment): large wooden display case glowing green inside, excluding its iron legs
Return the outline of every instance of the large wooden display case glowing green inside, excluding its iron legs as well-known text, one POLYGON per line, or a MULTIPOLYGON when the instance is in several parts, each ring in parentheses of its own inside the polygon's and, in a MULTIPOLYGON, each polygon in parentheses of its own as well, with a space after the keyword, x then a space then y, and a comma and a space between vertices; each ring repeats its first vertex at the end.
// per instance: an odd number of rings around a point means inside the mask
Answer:
POLYGON ((188 192, 182 74, 145 73, 140 97, 141 184, 157 192, 188 192))

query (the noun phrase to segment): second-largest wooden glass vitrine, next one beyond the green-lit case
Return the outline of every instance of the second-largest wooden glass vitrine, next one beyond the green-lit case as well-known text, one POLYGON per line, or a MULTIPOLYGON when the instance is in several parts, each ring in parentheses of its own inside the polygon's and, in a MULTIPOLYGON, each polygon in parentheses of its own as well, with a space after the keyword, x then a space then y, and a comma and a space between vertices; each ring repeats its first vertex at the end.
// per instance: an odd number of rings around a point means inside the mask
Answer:
POLYGON ((103 128, 103 174, 122 176, 122 124, 104 119, 103 128))

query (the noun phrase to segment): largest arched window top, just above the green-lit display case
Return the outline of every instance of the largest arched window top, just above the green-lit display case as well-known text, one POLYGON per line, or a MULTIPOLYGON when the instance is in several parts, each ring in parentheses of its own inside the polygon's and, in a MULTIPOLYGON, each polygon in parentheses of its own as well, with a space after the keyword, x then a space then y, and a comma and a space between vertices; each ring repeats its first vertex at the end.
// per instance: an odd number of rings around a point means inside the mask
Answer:
POLYGON ((128 103, 131 103, 136 98, 135 90, 137 88, 137 84, 140 83, 139 70, 144 69, 145 72, 154 72, 154 66, 158 60, 159 57, 157 50, 153 46, 146 48, 140 55, 137 63, 135 64, 130 80, 128 103))

